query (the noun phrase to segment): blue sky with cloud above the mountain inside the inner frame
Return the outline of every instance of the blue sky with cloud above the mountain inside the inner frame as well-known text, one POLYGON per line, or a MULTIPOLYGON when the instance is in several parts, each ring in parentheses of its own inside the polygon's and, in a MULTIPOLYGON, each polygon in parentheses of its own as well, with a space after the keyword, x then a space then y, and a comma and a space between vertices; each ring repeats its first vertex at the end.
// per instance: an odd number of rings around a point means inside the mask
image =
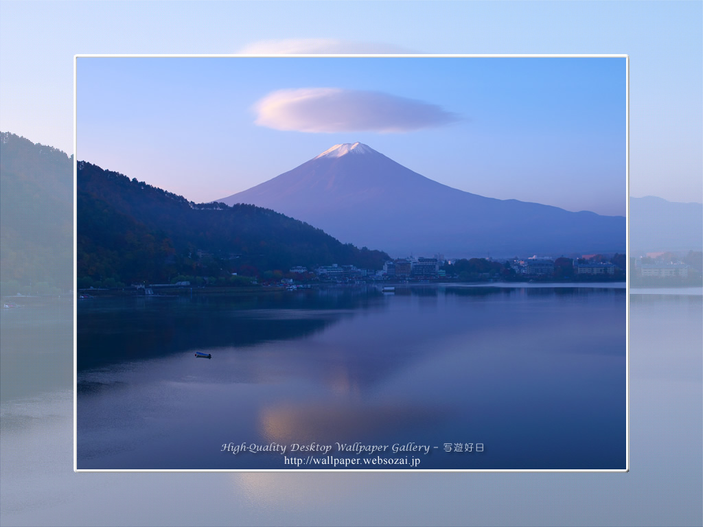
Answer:
POLYGON ((468 192, 624 215, 626 60, 77 59, 77 159, 195 202, 355 141, 468 192))

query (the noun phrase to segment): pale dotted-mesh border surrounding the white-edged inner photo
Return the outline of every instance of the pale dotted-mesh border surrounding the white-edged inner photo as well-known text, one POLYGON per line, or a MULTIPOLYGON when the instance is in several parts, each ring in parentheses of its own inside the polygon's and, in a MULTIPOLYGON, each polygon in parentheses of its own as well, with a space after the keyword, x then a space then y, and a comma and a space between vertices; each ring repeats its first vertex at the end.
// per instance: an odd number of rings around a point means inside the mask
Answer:
POLYGON ((3 134, 0 287, 27 308, 0 315, 1 524, 703 524, 703 258, 690 249, 701 211, 635 199, 701 197, 699 2, 0 1, 0 12, 0 131, 69 153, 75 53, 627 53, 637 279, 626 474, 76 474, 72 160, 3 134))

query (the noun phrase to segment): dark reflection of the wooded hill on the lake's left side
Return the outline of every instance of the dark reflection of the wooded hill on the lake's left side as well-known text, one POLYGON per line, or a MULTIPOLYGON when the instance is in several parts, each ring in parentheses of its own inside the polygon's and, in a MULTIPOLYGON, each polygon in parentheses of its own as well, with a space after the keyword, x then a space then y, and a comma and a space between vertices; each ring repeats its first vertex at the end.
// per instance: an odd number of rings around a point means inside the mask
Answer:
POLYGON ((252 346, 322 331, 370 298, 349 290, 79 302, 78 369, 191 349, 252 346), (311 313, 309 309, 314 311, 311 313))

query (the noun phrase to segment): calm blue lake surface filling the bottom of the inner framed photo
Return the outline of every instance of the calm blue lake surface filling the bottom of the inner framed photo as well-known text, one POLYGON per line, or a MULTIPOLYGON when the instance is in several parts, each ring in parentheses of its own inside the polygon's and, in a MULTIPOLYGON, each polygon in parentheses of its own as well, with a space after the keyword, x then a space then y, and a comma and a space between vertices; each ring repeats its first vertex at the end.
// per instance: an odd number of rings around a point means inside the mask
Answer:
POLYGON ((77 320, 78 469, 295 469, 292 443, 337 442, 430 445, 418 469, 625 468, 623 287, 87 299, 77 320))

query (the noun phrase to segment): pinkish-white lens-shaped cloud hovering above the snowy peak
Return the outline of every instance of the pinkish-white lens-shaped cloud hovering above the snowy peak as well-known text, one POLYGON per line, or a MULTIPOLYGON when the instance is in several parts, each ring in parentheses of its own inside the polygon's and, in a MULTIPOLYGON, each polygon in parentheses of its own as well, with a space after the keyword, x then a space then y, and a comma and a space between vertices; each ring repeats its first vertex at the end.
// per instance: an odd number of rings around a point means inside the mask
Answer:
POLYGON ((305 132, 404 132, 458 120, 437 105, 375 91, 278 90, 254 106, 256 124, 305 132))

